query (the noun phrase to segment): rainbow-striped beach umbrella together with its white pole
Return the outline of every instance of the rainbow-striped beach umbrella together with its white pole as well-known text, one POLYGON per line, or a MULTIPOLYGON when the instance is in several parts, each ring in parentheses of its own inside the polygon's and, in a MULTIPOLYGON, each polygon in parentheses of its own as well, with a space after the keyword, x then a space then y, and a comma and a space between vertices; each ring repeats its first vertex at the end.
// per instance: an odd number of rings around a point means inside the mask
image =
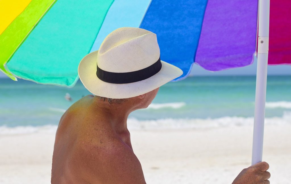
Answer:
POLYGON ((1 0, 0 69, 13 80, 74 86, 81 59, 119 27, 156 33, 161 59, 184 71, 174 81, 194 63, 219 71, 258 55, 254 164, 262 159, 267 64, 291 64, 290 9, 288 0, 1 0))

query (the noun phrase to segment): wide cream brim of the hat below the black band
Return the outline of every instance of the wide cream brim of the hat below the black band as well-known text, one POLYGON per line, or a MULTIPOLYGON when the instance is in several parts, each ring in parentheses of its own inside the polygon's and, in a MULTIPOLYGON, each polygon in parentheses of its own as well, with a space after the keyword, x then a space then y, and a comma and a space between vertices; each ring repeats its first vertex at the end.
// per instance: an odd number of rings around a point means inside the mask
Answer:
POLYGON ((183 71, 164 61, 161 70, 147 79, 127 84, 112 84, 96 75, 98 50, 87 54, 80 62, 78 74, 85 88, 94 95, 107 98, 131 98, 148 93, 179 77, 183 71))

